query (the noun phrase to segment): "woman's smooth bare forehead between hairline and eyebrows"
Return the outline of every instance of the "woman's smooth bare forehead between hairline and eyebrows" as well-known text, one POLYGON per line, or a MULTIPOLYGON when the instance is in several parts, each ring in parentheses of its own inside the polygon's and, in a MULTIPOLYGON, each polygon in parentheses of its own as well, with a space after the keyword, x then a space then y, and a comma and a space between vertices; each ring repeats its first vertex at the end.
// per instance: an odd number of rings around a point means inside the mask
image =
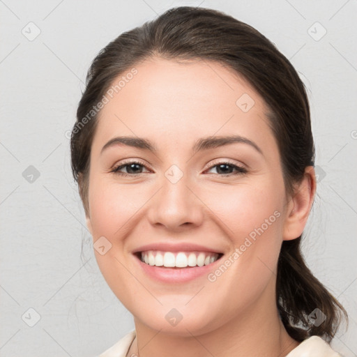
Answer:
POLYGON ((273 140, 264 100, 230 68, 213 61, 160 58, 133 68, 114 79, 107 91, 94 142, 114 133, 166 144, 231 134, 273 140))

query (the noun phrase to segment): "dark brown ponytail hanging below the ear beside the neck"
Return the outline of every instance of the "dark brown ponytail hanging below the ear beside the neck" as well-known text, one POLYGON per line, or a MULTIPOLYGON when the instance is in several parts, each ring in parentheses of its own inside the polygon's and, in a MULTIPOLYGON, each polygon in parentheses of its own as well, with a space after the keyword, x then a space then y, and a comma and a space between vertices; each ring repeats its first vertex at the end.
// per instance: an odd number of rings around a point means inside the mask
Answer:
POLYGON ((307 268, 300 243, 301 236, 282 243, 276 283, 280 319, 294 340, 317 335, 331 342, 347 312, 307 268))

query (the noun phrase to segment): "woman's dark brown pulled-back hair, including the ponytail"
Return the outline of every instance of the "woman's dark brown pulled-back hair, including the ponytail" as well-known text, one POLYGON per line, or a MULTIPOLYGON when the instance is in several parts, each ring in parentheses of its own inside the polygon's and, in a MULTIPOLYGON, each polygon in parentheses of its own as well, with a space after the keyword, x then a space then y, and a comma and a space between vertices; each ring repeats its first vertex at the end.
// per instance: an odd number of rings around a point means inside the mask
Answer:
MULTIPOLYGON (((298 73, 252 26, 216 10, 184 6, 122 33, 91 63, 70 141, 73 176, 87 215, 91 143, 97 123, 97 114, 88 114, 114 79, 151 56, 215 61, 247 79, 270 110, 266 115, 278 142, 285 187, 293 195, 294 183, 301 181, 305 167, 314 165, 310 108, 298 73)), ((280 318, 295 340, 319 335, 331 341, 342 313, 347 319, 347 312, 307 268, 300 244, 301 236, 282 243, 276 284, 280 318), (319 326, 309 319, 316 308, 326 315, 319 326)))

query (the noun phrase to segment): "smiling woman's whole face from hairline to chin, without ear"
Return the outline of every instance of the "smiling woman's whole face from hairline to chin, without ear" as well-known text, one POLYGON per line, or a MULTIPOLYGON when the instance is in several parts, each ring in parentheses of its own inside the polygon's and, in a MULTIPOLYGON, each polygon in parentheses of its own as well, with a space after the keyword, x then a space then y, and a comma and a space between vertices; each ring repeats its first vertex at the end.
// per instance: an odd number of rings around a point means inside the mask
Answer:
POLYGON ((167 333, 266 311, 287 201, 263 100, 218 63, 135 68, 107 92, 91 150, 87 225, 100 271, 136 321, 167 333), (103 149, 116 137, 133 139, 103 149))

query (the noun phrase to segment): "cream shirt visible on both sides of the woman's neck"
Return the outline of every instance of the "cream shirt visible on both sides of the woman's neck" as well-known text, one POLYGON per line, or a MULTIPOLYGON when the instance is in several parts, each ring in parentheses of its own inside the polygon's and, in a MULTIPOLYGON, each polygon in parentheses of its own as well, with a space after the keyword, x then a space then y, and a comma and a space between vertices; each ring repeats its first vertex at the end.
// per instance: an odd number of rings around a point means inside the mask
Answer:
MULTIPOLYGON (((119 342, 116 342, 114 346, 100 354, 99 357, 126 357, 130 344, 135 339, 135 335, 135 330, 130 331, 119 342)), ((321 337, 312 336, 301 342, 286 357, 341 357, 341 355, 333 351, 330 345, 322 340, 321 337)))

